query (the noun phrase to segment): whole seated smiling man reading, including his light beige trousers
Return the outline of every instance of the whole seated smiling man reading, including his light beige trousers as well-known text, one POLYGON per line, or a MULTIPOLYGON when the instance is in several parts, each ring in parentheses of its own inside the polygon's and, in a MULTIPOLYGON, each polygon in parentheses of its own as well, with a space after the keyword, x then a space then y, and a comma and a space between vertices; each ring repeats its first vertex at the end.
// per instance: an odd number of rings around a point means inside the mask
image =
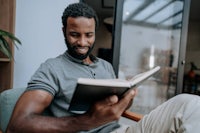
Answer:
POLYGON ((8 133, 181 132, 200 116, 199 111, 194 111, 200 109, 199 97, 180 95, 152 111, 138 124, 120 128, 117 120, 131 104, 136 94, 134 90, 120 99, 113 95, 97 101, 82 115, 68 112, 77 78, 110 79, 115 75, 108 62, 91 55, 98 26, 94 10, 82 3, 71 4, 65 9, 62 22, 68 50, 47 60, 32 76, 16 104, 8 133), (42 115, 47 108, 53 116, 42 115))

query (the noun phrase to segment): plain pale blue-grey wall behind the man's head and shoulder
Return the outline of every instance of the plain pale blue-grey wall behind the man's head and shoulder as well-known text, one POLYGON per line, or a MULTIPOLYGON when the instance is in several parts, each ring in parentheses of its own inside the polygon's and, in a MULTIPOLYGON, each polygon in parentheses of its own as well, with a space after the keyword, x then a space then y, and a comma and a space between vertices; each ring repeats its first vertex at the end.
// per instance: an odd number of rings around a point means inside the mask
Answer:
POLYGON ((22 46, 15 49, 13 87, 25 87, 31 75, 47 58, 66 50, 61 15, 78 0, 17 0, 16 36, 22 46))

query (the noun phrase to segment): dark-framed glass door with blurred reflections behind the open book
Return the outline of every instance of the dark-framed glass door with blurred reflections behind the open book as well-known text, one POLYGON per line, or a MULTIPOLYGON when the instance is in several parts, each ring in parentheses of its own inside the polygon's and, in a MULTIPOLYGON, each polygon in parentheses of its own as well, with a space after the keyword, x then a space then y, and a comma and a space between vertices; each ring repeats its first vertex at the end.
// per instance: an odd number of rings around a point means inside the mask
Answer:
POLYGON ((118 77, 129 79, 161 66, 156 75, 138 87, 139 93, 132 106, 136 112, 148 113, 179 91, 179 69, 184 67, 184 57, 181 57, 184 53, 180 51, 184 51, 186 45, 186 35, 182 32, 187 32, 183 25, 188 22, 185 8, 183 0, 116 3, 113 65, 118 77))

